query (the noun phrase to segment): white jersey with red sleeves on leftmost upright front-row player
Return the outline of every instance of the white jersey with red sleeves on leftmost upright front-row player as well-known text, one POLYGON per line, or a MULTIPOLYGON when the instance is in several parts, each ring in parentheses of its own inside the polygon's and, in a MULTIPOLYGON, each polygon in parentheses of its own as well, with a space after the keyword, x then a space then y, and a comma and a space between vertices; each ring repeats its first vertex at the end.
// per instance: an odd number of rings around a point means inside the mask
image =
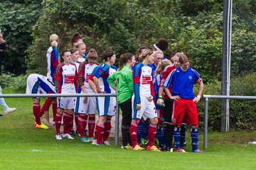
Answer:
POLYGON ((78 72, 75 64, 59 64, 56 69, 55 84, 58 94, 75 94, 78 88, 78 72))

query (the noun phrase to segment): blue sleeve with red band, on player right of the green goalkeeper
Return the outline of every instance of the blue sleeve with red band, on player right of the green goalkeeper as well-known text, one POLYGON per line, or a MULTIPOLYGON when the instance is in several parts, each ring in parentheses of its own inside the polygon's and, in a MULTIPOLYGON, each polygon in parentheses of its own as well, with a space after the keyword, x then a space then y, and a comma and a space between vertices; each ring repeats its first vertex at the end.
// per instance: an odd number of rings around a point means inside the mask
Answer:
POLYGON ((141 103, 140 96, 139 96, 139 79, 141 77, 141 74, 142 74, 142 67, 139 67, 139 65, 137 65, 137 67, 135 67, 133 71, 133 76, 132 76, 133 84, 134 84, 134 96, 137 104, 141 103))

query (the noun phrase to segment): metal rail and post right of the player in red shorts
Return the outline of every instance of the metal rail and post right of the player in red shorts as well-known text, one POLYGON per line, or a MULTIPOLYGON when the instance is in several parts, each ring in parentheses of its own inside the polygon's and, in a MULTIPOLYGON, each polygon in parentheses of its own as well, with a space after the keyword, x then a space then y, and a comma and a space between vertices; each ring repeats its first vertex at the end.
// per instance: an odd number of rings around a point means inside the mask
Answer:
POLYGON ((208 102, 210 98, 213 99, 237 99, 237 100, 256 100, 256 96, 216 96, 216 95, 203 95, 205 101, 204 109, 204 128, 203 128, 203 149, 207 149, 208 137, 208 102))

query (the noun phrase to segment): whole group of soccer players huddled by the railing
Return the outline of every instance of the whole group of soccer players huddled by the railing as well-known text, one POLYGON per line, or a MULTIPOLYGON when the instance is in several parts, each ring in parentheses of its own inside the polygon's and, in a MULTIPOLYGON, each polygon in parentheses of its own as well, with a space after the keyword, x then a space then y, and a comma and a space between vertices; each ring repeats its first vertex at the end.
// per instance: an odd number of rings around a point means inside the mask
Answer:
MULTIPOLYGON (((200 74, 189 67, 187 55, 174 53, 171 56, 173 63, 165 59, 168 41, 161 38, 152 49, 139 47, 137 55, 121 55, 117 69, 114 67, 116 55, 112 50, 103 52, 103 64, 98 64, 97 52, 90 49, 86 54, 85 42, 78 33, 71 38, 72 48, 60 55, 58 40, 58 35, 50 35, 51 47, 46 55, 47 76, 31 74, 27 79, 26 94, 117 93, 117 102, 122 110, 123 149, 144 150, 142 139, 146 138, 146 149, 149 151, 174 152, 175 145, 176 152, 186 152, 183 147, 188 123, 191 125, 192 152, 201 153, 198 149, 196 103, 203 92, 203 81, 200 74), (195 82, 199 84, 196 97, 193 94, 195 82), (159 147, 154 145, 156 141, 159 147)), ((75 117, 76 134, 82 142, 110 145, 111 118, 117 109, 114 97, 47 98, 42 108, 40 99, 33 98, 36 128, 49 128, 48 110, 51 104, 56 140, 74 139, 70 131, 73 130, 75 117), (96 109, 99 115, 97 123, 96 109), (41 122, 43 114, 48 125, 41 122), (60 132, 62 120, 63 132, 60 132)))

